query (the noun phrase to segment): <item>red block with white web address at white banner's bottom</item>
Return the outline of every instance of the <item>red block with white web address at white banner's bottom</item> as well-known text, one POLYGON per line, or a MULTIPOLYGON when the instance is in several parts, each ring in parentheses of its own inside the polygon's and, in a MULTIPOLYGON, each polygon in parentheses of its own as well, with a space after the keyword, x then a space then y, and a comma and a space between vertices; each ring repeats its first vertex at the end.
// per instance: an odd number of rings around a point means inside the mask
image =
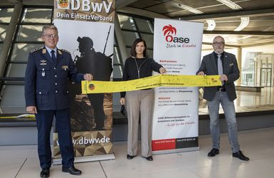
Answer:
POLYGON ((152 151, 176 149, 176 139, 152 140, 152 151))

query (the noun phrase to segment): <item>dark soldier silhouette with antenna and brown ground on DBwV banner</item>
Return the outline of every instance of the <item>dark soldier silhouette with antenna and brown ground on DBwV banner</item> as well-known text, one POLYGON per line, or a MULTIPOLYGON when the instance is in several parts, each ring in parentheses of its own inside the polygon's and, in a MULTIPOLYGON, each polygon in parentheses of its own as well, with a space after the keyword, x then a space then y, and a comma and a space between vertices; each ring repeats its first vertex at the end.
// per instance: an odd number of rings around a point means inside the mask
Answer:
MULTIPOLYGON (((109 28, 106 34, 105 47, 107 46, 108 37, 110 34, 109 28)), ((94 76, 94 80, 110 81, 112 73, 112 58, 113 54, 107 56, 104 51, 95 51, 93 40, 88 36, 83 36, 76 39, 78 41, 78 51, 80 56, 73 53, 75 56, 73 62, 76 68, 81 72, 88 72, 94 76)), ((95 93, 81 95, 81 85, 79 83, 70 83, 70 105, 72 131, 78 132, 83 130, 111 130, 112 124, 108 122, 107 117, 112 108, 107 108, 112 102, 112 94, 110 93, 95 93)), ((111 118, 110 118, 111 120, 111 118)))

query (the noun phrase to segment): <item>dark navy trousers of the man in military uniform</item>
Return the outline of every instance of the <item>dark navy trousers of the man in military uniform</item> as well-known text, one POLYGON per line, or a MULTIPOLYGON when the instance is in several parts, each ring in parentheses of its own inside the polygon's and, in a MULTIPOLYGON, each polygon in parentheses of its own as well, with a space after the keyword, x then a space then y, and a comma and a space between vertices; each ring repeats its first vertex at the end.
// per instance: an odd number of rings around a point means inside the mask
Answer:
POLYGON ((38 110, 36 125, 38 129, 38 156, 41 168, 51 167, 51 126, 53 116, 56 117, 58 143, 63 167, 72 167, 74 151, 70 131, 70 109, 38 110))

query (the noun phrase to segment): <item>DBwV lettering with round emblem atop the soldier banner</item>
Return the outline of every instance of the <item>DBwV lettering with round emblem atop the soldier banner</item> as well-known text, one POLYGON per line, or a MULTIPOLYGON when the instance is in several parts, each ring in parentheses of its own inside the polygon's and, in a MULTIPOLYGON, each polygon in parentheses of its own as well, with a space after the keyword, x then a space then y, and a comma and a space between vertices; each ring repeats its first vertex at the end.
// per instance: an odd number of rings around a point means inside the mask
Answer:
POLYGON ((71 9, 73 11, 93 11, 102 12, 105 9, 106 13, 110 12, 112 2, 107 4, 106 1, 90 2, 90 0, 58 0, 57 9, 71 9))

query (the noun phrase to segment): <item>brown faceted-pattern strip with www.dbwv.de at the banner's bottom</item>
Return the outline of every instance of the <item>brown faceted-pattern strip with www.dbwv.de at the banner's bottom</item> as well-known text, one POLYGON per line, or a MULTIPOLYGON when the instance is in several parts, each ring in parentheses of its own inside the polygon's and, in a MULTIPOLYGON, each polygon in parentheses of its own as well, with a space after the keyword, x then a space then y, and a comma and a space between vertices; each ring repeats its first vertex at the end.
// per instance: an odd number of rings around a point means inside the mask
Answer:
MULTIPOLYGON (((75 157, 112 154, 112 130, 72 132, 75 157)), ((58 134, 53 133, 53 158, 61 157, 58 134)))

